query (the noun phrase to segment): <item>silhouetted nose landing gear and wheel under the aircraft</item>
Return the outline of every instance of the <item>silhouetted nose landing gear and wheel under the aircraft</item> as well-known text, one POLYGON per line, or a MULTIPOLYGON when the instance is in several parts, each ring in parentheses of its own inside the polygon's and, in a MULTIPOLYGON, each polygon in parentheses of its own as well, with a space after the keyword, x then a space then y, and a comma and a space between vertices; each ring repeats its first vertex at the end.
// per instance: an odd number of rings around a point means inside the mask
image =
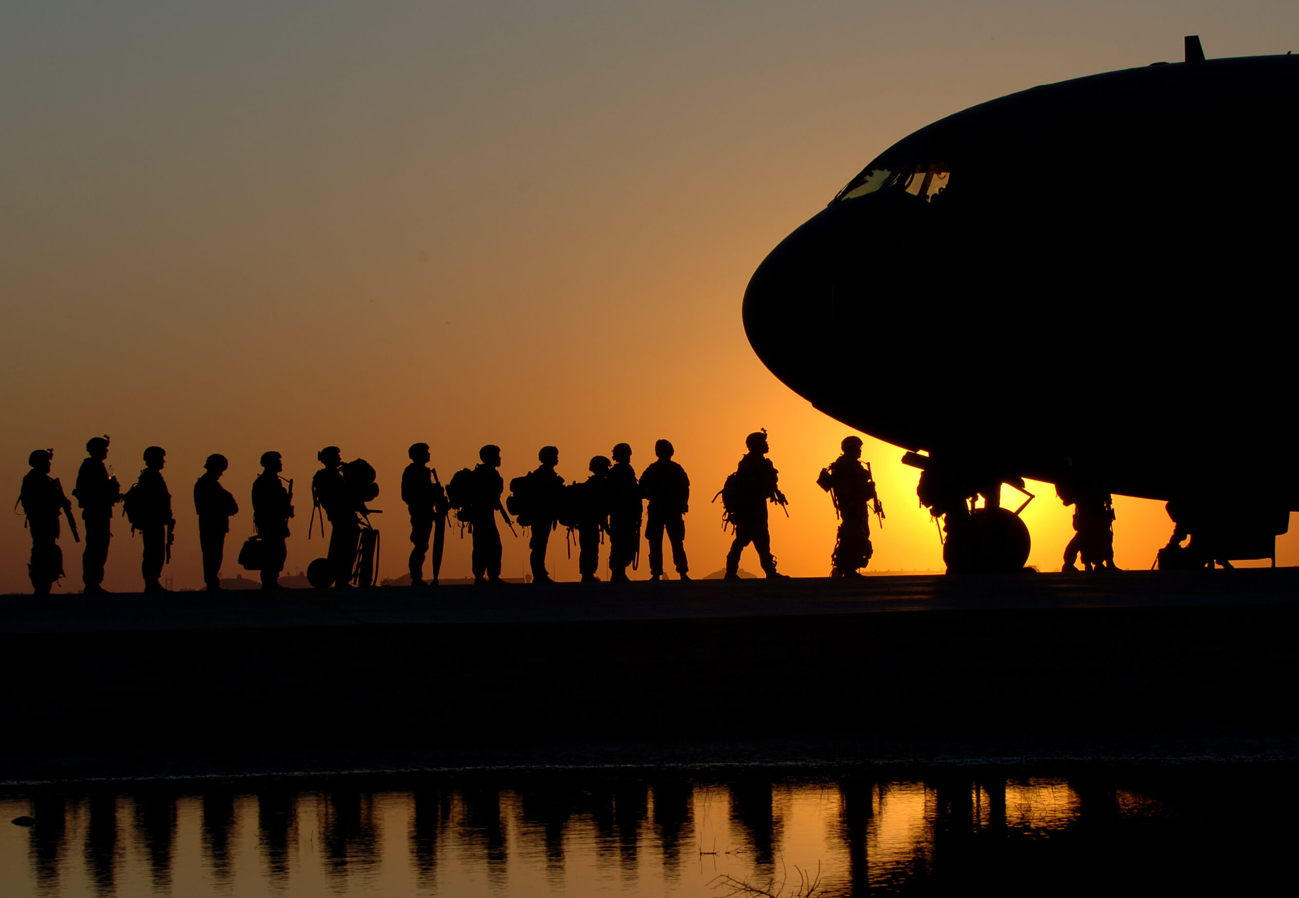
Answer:
POLYGON ((1033 500, 1024 480, 939 465, 930 456, 908 452, 903 463, 920 468, 916 494, 934 517, 943 519, 943 561, 947 573, 1007 573, 1024 569, 1033 541, 1020 512, 1033 500), (1029 496, 1016 511, 1002 508, 1002 483, 1029 496), (983 507, 976 508, 978 496, 983 507))

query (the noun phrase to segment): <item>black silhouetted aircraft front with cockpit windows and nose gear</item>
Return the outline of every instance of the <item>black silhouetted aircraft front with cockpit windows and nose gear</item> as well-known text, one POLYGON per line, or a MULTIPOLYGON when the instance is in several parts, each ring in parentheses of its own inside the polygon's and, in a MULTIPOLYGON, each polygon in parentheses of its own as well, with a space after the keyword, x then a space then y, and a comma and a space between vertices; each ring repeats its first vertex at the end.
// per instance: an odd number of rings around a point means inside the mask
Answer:
POLYGON ((950 569, 1024 564, 998 495, 1025 477, 1194 506, 1221 556, 1274 560, 1299 509, 1296 91, 1299 57, 1204 60, 1192 36, 1185 62, 942 118, 763 261, 750 343, 822 412, 911 450, 950 569))

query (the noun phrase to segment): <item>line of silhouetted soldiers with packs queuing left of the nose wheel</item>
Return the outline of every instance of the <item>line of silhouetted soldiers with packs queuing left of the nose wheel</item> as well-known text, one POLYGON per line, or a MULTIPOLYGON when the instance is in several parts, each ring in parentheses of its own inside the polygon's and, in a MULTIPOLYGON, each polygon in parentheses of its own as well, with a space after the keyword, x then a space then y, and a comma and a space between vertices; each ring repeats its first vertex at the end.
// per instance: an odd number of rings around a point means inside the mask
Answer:
MULTIPOLYGON (((772 554, 768 504, 787 504, 779 490, 778 472, 766 457, 770 451, 766 431, 746 438, 747 454, 735 473, 726 478, 714 496, 722 499, 724 521, 734 528, 734 539, 726 554, 727 580, 739 578, 739 561, 746 547, 753 546, 759 564, 768 577, 783 577, 772 554)), ((870 504, 883 520, 883 508, 876 494, 869 464, 861 464, 861 439, 843 441, 843 454, 821 472, 817 483, 831 494, 840 525, 833 555, 834 576, 860 576, 872 556, 870 504)), ((171 494, 162 477, 166 452, 157 446, 144 450, 144 469, 135 485, 122 491, 121 483, 107 464, 108 437, 95 437, 86 443, 87 456, 77 474, 73 496, 82 509, 86 545, 82 552, 82 580, 86 593, 104 593, 104 565, 112 538, 113 508, 123 504, 132 535, 138 530, 143 542, 140 573, 145 591, 165 591, 162 567, 170 561, 175 539, 175 517, 171 494)), ((611 456, 598 455, 588 464, 590 476, 565 483, 556 472, 559 450, 546 446, 538 452, 539 465, 511 481, 511 495, 503 502, 505 482, 499 469, 501 452, 498 446, 483 446, 479 463, 465 468, 443 486, 431 461, 429 444, 414 443, 408 455, 410 464, 401 474, 401 499, 410 515, 412 551, 408 560, 412 585, 436 584, 442 563, 446 525, 451 513, 473 539, 472 567, 474 582, 501 584, 501 539, 496 528, 500 515, 513 532, 511 513, 520 525, 531 529, 529 538, 534 584, 551 584, 546 568, 549 537, 560 526, 577 534, 578 569, 583 582, 598 582, 600 546, 608 537, 611 581, 626 581, 627 568, 635 569, 640 558, 640 535, 650 545, 650 578, 665 577, 664 537, 672 548, 672 563, 682 580, 690 578, 686 558, 685 515, 690 511, 690 478, 673 460, 674 448, 666 439, 655 443, 656 460, 638 477, 631 465, 631 447, 618 443, 611 456), (648 502, 648 509, 644 503, 648 502), (423 578, 425 561, 433 541, 433 578, 423 578)), ((31 470, 23 477, 19 502, 31 530, 32 552, 29 573, 36 593, 49 593, 62 576, 62 554, 58 548, 60 517, 68 519, 77 535, 71 502, 58 480, 49 476, 53 450, 36 450, 29 457, 31 470)), ((378 532, 369 525, 375 511, 366 502, 378 495, 375 472, 364 460, 344 463, 339 447, 327 446, 317 454, 321 469, 312 477, 313 513, 321 515, 321 535, 326 517, 329 539, 326 576, 317 585, 347 589, 352 584, 374 582, 372 569, 378 532), (369 542, 368 542, 369 541, 369 542)), ((292 480, 281 476, 279 452, 261 456, 262 473, 253 481, 252 507, 256 537, 240 552, 240 563, 260 569, 262 589, 281 589, 278 577, 287 555, 288 522, 294 517, 292 480)), ((210 455, 204 474, 194 486, 194 504, 199 517, 199 545, 203 554, 203 578, 209 590, 221 589, 221 565, 230 519, 239 513, 235 498, 221 485, 229 468, 223 455, 210 455)), ((788 513, 788 512, 786 512, 788 513)), ((312 535, 308 525, 308 538, 312 535)), ((310 573, 310 572, 309 572, 310 573)))

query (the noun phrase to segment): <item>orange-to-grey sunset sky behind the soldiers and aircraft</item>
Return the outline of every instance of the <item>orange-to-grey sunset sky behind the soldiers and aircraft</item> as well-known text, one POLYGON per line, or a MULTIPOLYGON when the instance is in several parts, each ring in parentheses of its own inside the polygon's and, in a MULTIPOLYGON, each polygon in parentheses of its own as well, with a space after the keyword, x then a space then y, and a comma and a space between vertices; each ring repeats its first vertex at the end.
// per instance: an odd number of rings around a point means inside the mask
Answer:
MULTIPOLYGON (((503 447, 507 480, 553 443, 572 480, 620 441, 640 469, 666 437, 694 482, 701 576, 727 542, 708 502, 765 426, 791 500, 773 519, 781 567, 824 574, 835 519, 813 481, 850 431, 750 350, 753 269, 917 127, 1178 60, 1186 34, 1211 57, 1283 53, 1299 4, 5 4, 0 482, 17 496, 27 452, 53 446, 70 489, 86 439, 108 433, 125 486, 164 446, 179 522, 166 573, 196 587, 204 457, 231 460, 234 576, 257 456, 283 452, 297 571, 323 554, 305 487, 334 443, 379 470, 381 569, 397 576, 409 443, 431 444, 444 480, 483 443, 503 447)), ((873 389, 903 373, 863 359, 873 389)), ((940 568, 900 456, 866 443, 889 512, 872 567, 940 568)), ((1120 567, 1150 567, 1163 507, 1117 509, 1120 567)), ((1072 530, 1052 487, 1025 519, 1030 563, 1056 567, 1072 530)), ((114 521, 109 589, 139 586, 129 533, 114 521)), ((465 576, 468 539, 452 537, 443 574, 465 576)), ((81 547, 62 546, 64 589, 79 589, 81 547)), ((0 591, 30 589, 29 547, 16 513, 0 591)), ((1299 537, 1280 547, 1299 561, 1299 537)), ((507 576, 525 555, 507 532, 507 576)), ((562 535, 551 555, 575 577, 562 535)))

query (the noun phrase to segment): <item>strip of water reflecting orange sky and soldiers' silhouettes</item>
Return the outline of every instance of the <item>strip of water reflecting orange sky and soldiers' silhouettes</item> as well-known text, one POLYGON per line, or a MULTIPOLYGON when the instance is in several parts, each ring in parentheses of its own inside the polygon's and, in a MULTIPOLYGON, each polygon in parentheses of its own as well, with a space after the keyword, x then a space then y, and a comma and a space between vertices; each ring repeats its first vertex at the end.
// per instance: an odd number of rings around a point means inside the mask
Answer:
POLYGON ((820 869, 826 895, 1118 880, 1239 892, 1287 856, 1295 797, 1283 773, 45 789, 0 799, 4 819, 36 819, 3 830, 0 894, 718 895, 721 876, 790 894, 799 869, 820 869), (1250 866, 1235 868, 1241 858, 1250 866))

